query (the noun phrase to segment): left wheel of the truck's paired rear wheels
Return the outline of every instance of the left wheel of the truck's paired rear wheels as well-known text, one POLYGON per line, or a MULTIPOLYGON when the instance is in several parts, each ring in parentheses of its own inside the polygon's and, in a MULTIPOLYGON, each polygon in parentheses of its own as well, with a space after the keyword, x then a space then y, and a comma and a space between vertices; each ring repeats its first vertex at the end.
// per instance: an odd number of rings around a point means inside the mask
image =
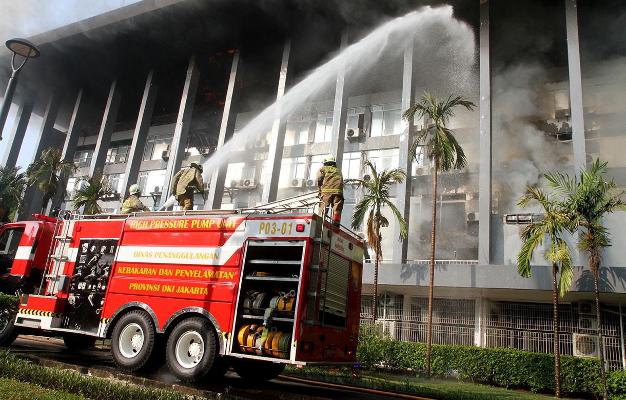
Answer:
POLYGON ((155 326, 143 311, 124 314, 113 327, 111 354, 125 372, 137 371, 150 358, 155 342, 155 326))

